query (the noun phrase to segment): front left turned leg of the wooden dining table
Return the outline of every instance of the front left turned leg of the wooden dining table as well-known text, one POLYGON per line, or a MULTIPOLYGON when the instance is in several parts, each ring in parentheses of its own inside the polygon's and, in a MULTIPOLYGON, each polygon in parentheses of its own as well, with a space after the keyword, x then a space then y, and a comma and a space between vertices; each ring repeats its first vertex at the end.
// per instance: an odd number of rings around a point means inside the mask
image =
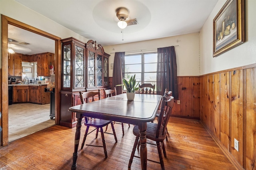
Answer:
POLYGON ((74 153, 73 153, 73 164, 71 167, 71 170, 75 170, 76 169, 76 160, 77 160, 77 156, 78 156, 78 145, 79 145, 79 141, 80 141, 80 132, 81 132, 81 122, 82 122, 82 117, 80 116, 79 113, 76 113, 76 117, 77 119, 77 123, 76 123, 76 135, 75 135, 75 146, 74 146, 74 153))

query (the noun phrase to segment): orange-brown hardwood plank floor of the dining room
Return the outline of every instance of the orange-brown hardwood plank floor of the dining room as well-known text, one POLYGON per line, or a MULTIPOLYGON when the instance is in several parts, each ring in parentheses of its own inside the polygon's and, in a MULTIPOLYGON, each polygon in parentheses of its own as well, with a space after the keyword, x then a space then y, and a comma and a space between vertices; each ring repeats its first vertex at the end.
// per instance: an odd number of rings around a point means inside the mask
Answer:
MULTIPOLYGON (((124 124, 124 136, 120 124, 114 124, 118 143, 114 136, 105 133, 108 158, 103 148, 84 146, 79 150, 77 170, 127 170, 135 136, 133 125, 124 124)), ((81 139, 85 132, 82 125, 81 139)), ((0 169, 17 170, 70 170, 74 152, 76 128, 54 125, 9 143, 0 149, 0 169)), ((111 128, 108 128, 111 132, 111 128)), ((168 123, 168 141, 164 142, 167 158, 166 170, 235 170, 199 121, 171 117, 168 123)), ((88 135, 86 144, 102 145, 100 135, 88 135)), ((80 148, 79 145, 79 148, 80 148)), ((148 159, 159 161, 157 148, 147 145, 148 159)), ((135 155, 138 155, 136 150, 135 155)), ((141 169, 140 159, 133 159, 131 170, 141 169)), ((148 169, 159 170, 160 164, 148 161, 148 169)))

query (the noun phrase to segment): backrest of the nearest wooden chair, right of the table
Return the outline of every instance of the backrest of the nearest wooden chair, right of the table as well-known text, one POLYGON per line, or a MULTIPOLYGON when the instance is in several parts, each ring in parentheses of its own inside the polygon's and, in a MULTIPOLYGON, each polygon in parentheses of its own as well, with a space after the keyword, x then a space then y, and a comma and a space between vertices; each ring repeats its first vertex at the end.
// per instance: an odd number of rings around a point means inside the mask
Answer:
POLYGON ((173 105, 174 105, 174 97, 162 96, 160 115, 158 117, 158 125, 157 125, 157 129, 156 129, 156 137, 157 138, 159 137, 160 133, 164 134, 164 131, 166 130, 170 115, 172 113, 173 105), (163 126, 163 129, 160 132, 161 126, 163 126))

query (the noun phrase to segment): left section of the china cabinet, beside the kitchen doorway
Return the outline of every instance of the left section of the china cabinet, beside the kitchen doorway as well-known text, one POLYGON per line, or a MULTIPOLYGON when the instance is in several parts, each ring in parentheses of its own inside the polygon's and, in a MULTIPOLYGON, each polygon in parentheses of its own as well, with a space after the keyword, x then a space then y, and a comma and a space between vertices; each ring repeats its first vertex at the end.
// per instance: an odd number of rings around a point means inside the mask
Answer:
MULTIPOLYGON (((74 106, 76 94, 86 89, 85 43, 73 37, 62 39, 62 89, 60 90, 60 125, 74 127, 76 113, 68 108, 74 106)), ((80 99, 79 99, 80 100, 80 99)))

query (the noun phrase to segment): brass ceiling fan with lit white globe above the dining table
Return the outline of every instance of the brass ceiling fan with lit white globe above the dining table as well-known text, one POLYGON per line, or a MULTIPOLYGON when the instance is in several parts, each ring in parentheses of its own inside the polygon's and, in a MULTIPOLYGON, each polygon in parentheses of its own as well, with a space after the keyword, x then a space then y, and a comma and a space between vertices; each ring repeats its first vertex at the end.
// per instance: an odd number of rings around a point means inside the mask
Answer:
POLYGON ((128 9, 127 9, 127 8, 124 8, 124 7, 117 8, 117 9, 116 9, 116 16, 117 16, 117 18, 120 20, 120 21, 117 23, 117 25, 118 25, 118 27, 120 27, 121 29, 126 28, 126 26, 128 26, 128 25, 137 25, 137 24, 138 24, 138 21, 137 21, 136 18, 126 21, 126 19, 127 19, 128 16, 129 16, 129 12, 128 12, 128 9))

